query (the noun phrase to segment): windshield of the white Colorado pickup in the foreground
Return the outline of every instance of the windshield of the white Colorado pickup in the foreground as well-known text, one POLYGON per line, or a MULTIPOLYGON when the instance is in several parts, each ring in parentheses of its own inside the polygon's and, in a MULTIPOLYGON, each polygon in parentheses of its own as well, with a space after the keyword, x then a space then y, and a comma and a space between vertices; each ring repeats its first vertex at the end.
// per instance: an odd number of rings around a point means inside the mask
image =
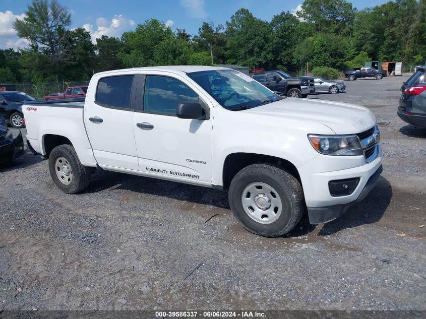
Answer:
POLYGON ((279 100, 262 84, 234 70, 192 72, 188 76, 228 110, 252 108, 279 100))

